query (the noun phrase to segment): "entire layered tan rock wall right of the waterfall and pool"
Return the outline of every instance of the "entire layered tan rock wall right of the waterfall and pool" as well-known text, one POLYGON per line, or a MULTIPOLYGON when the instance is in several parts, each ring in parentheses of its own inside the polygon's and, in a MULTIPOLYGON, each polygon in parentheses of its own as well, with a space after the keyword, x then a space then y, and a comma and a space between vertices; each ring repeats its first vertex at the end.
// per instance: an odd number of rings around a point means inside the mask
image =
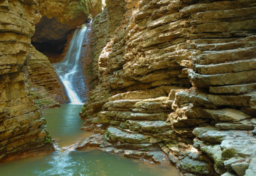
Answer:
POLYGON ((194 175, 255 175, 256 1, 106 3, 80 113, 98 134, 79 148, 170 160, 194 175))

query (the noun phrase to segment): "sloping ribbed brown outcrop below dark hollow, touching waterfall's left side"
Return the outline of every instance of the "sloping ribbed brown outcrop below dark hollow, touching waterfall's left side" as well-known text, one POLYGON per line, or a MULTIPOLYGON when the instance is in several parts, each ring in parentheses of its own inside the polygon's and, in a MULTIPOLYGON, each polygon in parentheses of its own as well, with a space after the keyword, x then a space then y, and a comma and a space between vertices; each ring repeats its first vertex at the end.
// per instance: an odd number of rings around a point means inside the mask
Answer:
POLYGON ((64 92, 64 86, 60 83, 48 57, 37 51, 34 46, 30 47, 29 53, 30 95, 33 95, 35 103, 42 108, 51 108, 67 103, 68 98, 64 92))

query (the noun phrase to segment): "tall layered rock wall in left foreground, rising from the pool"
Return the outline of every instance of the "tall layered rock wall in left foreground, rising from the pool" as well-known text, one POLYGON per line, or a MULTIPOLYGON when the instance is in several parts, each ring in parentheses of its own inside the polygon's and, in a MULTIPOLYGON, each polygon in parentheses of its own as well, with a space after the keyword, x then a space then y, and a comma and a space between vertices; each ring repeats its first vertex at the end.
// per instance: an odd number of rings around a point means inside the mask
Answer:
POLYGON ((36 1, 0 2, 0 162, 53 151, 46 121, 28 96, 26 61, 36 1))

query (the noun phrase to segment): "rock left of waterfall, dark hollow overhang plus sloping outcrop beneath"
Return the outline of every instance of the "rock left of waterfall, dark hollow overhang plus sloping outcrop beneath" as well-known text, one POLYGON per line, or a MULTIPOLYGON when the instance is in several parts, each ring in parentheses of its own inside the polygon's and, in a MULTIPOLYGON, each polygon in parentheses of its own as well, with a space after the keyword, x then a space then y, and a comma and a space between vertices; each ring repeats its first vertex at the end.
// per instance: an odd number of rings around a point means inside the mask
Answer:
POLYGON ((36 21, 32 37, 36 48, 30 47, 28 85, 37 106, 53 108, 67 103, 68 98, 51 63, 65 57, 75 28, 89 22, 87 17, 90 19, 101 12, 102 1, 40 0, 38 3, 37 12, 42 19, 36 21))

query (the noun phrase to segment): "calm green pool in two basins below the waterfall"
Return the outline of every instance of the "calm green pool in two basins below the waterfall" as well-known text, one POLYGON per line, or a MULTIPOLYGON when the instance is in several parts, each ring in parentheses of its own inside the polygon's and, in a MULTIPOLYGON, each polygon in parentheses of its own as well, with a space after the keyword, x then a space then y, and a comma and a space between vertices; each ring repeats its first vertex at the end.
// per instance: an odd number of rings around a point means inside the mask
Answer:
POLYGON ((134 159, 104 153, 99 150, 72 150, 72 144, 90 135, 80 130, 83 121, 78 116, 82 106, 63 105, 44 110, 47 128, 57 140, 57 151, 41 157, 30 157, 0 164, 1 176, 30 175, 179 175, 174 166, 163 168, 134 159), (71 150, 65 150, 70 148, 71 150))

